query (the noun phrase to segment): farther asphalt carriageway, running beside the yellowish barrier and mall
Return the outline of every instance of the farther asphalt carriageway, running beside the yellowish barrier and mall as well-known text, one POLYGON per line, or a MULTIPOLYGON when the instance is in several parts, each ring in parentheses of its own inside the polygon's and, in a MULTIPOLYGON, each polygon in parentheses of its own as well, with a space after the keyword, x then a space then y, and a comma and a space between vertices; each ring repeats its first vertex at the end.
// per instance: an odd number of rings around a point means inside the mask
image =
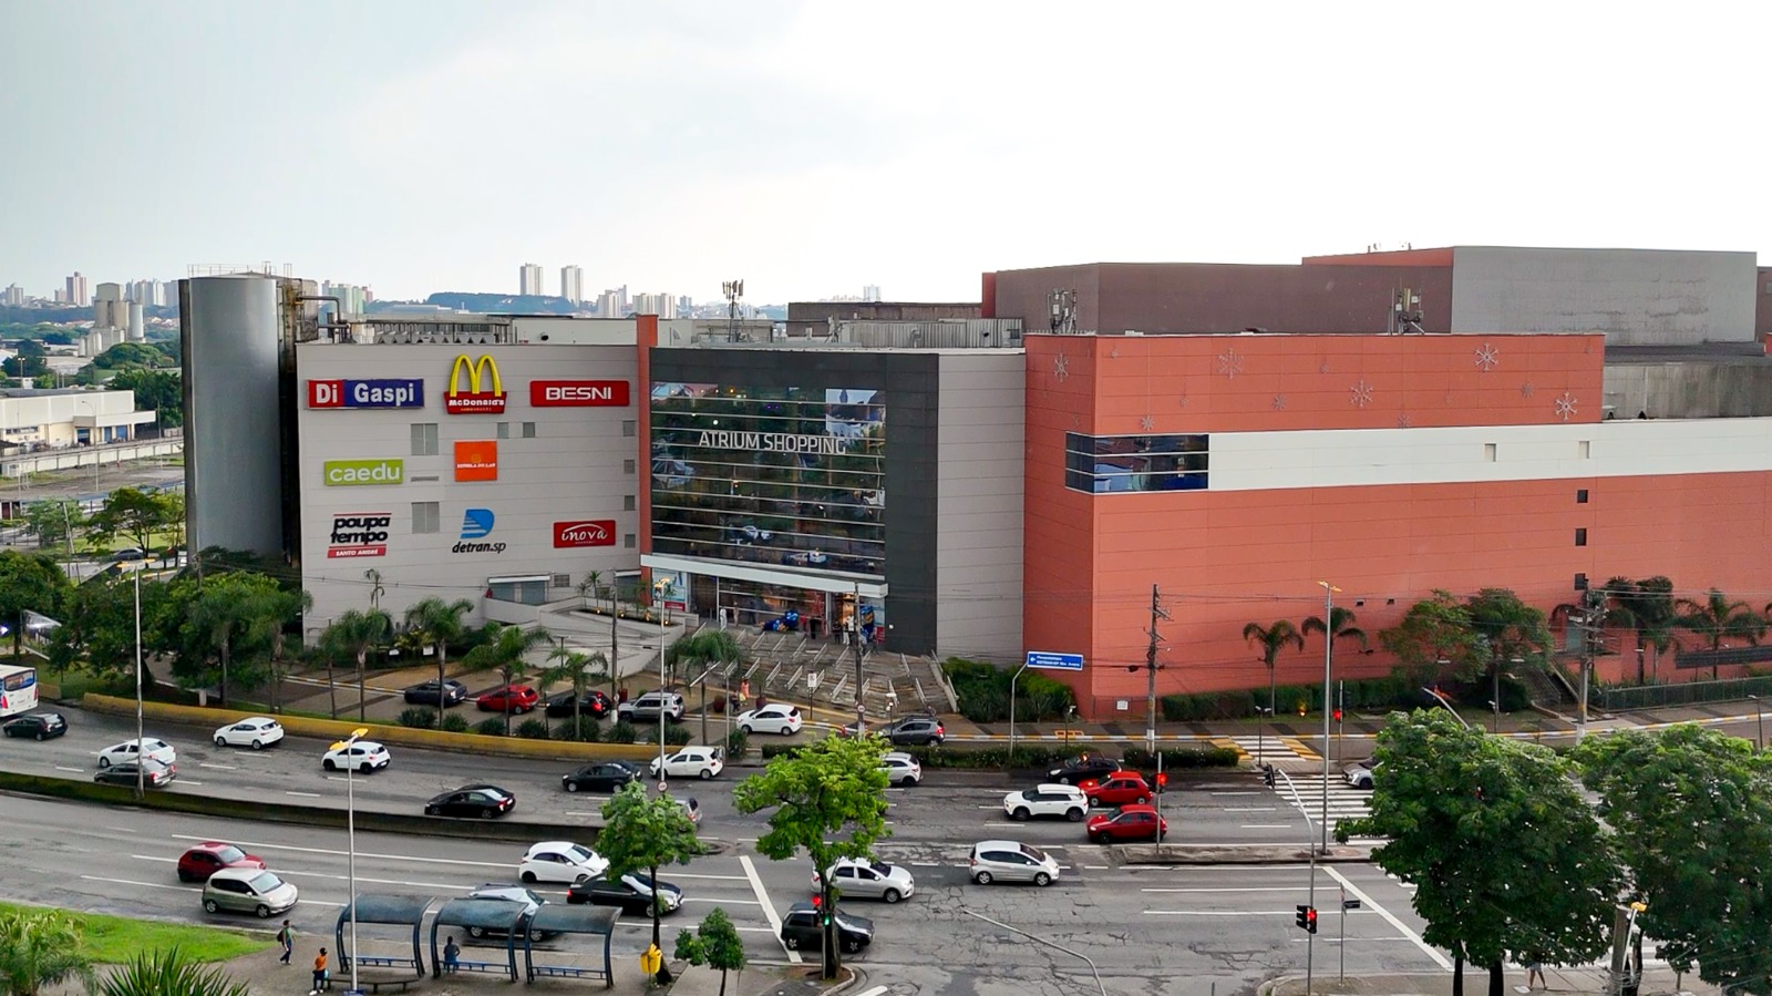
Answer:
MULTIPOLYGON (((0 764, 9 771, 62 778, 90 778, 97 753, 135 737, 135 721, 62 711, 67 734, 34 743, 0 739, 0 764)), ((218 748, 213 727, 151 725, 147 735, 174 744, 179 751, 179 778, 165 792, 195 792, 229 799, 262 799, 308 806, 346 806, 346 774, 321 767, 326 743, 285 737, 280 744, 253 751, 218 748)), ((374 774, 353 776, 356 805, 374 812, 420 813, 425 799, 470 782, 489 782, 517 798, 525 819, 556 822, 601 822, 606 796, 563 792, 560 776, 574 762, 482 757, 468 753, 390 748, 393 764, 374 774)), ((693 796, 702 806, 702 835, 748 842, 755 840, 758 817, 732 808, 732 783, 750 769, 730 767, 712 782, 672 780, 673 794, 693 796)), ((1065 821, 1012 822, 1003 813, 1003 796, 1035 783, 1033 776, 994 776, 985 773, 927 771, 914 789, 890 790, 891 829, 900 842, 964 842, 1012 836, 1047 847, 1083 844, 1083 828, 1065 821)), ((1322 812, 1322 776, 1295 778, 1299 794, 1313 817, 1322 812)), ((1283 789, 1283 787, 1281 787, 1283 789)), ((1361 815, 1368 792, 1331 782, 1331 826, 1338 817, 1361 815)), ((1304 819, 1290 796, 1267 789, 1247 771, 1175 773, 1164 794, 1170 842, 1175 844, 1302 844, 1310 838, 1304 819)), ((1317 831, 1320 833, 1320 831, 1317 831)))

